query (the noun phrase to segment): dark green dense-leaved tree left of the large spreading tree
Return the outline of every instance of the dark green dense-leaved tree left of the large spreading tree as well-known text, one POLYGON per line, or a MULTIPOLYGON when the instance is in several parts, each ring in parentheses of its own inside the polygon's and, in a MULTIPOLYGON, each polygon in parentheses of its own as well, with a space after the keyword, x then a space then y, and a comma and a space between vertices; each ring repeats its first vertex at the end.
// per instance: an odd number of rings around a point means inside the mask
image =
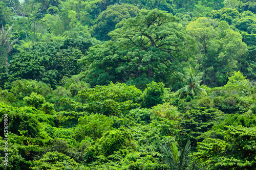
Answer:
POLYGON ((32 46, 30 52, 15 56, 9 69, 14 78, 39 80, 54 87, 63 77, 78 74, 76 61, 82 58, 92 45, 93 42, 87 39, 68 39, 63 43, 37 43, 32 46))

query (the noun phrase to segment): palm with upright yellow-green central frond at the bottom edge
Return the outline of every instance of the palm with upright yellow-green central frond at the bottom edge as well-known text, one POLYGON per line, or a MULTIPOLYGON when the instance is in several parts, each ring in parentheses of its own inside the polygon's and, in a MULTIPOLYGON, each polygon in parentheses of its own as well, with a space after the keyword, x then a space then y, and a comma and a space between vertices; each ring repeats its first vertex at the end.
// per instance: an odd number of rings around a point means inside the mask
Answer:
POLYGON ((161 151, 164 163, 172 170, 185 170, 190 162, 190 141, 188 140, 182 151, 178 151, 175 142, 172 145, 162 145, 161 151))

